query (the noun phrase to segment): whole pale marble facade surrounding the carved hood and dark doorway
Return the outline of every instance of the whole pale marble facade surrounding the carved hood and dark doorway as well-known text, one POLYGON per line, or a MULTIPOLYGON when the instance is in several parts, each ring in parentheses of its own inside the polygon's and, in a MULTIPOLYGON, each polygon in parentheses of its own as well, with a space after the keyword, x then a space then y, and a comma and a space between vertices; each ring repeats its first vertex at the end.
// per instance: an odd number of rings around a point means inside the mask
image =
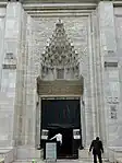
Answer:
MULTIPOLYGON (((25 145, 39 145, 41 98, 37 94, 37 78, 44 75, 44 59, 49 63, 53 58, 53 49, 48 51, 51 57, 42 56, 46 55, 46 48, 52 48, 50 43, 59 44, 48 40, 54 36, 58 14, 61 14, 60 20, 65 28, 61 42, 64 37, 69 38, 69 43, 76 50, 71 53, 72 57, 78 54, 77 77, 84 79, 84 92, 80 96, 84 147, 88 147, 91 139, 98 135, 108 147, 122 145, 121 10, 113 9, 113 3, 109 1, 99 2, 94 11, 80 10, 77 7, 76 10, 66 7, 59 11, 51 4, 51 10, 44 7, 46 10, 42 9, 39 13, 35 7, 35 11, 29 12, 23 7, 25 4, 20 2, 8 2, 7 8, 0 8, 0 145, 22 145, 19 150, 20 159, 24 149, 29 151, 25 145)), ((66 42, 63 43, 66 45, 66 42)), ((59 57, 56 60, 60 61, 60 50, 56 51, 58 54, 54 57, 59 57)), ((54 72, 49 70, 45 73, 45 80, 57 79, 56 60, 54 72)), ((71 79, 66 71, 64 79, 71 79)), ((81 80, 81 86, 83 83, 81 80)), ((51 94, 57 96, 60 90, 58 85, 54 89, 56 93, 51 94)), ((69 91, 70 85, 66 85, 66 89, 62 91, 62 95, 70 92, 73 96, 78 88, 74 92, 69 91)), ((82 92, 82 88, 78 91, 82 92)))

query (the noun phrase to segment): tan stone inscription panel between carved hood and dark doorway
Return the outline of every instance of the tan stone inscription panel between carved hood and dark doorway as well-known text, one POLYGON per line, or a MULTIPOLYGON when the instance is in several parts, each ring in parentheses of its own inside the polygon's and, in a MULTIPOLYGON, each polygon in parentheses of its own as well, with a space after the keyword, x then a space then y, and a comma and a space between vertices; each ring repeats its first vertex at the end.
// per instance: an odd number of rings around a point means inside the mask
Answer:
POLYGON ((41 81, 38 85, 39 95, 82 95, 82 81, 41 81))

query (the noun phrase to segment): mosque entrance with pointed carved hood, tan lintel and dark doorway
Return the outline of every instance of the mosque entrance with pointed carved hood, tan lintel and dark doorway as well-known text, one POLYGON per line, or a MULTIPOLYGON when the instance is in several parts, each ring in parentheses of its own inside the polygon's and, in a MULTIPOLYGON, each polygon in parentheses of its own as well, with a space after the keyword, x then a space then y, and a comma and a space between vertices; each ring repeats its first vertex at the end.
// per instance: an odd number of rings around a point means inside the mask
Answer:
POLYGON ((41 118, 38 118, 41 119, 40 147, 44 148, 46 140, 60 132, 62 147, 58 158, 62 159, 77 158, 78 148, 82 147, 83 77, 80 68, 80 55, 69 38, 64 24, 59 20, 41 54, 37 93, 41 98, 41 118), (63 100, 60 98, 63 96, 63 100))

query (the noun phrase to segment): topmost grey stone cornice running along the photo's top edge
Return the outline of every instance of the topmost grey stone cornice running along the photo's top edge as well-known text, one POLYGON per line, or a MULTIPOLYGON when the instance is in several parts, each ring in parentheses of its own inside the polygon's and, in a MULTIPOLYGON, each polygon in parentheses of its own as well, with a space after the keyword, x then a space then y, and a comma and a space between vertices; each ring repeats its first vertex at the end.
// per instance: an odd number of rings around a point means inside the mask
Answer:
MULTIPOLYGON (((72 1, 72 0, 71 0, 72 1)), ((111 0, 105 0, 111 1, 111 0)), ((15 1, 14 1, 15 2, 15 1)), ((38 0, 37 3, 35 0, 21 0, 23 2, 23 7, 25 10, 93 10, 97 7, 100 0, 81 0, 81 1, 73 1, 73 2, 52 2, 48 0, 44 3, 42 0, 38 0)), ((114 7, 122 7, 122 0, 114 0, 112 1, 114 7)), ((0 0, 0 7, 7 7, 8 0, 0 0)))

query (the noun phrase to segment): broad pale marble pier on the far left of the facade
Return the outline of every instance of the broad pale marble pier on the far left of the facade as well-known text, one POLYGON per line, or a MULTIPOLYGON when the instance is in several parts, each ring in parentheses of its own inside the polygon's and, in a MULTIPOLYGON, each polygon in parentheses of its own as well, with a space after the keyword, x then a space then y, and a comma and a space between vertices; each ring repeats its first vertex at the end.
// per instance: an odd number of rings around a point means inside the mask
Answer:
MULTIPOLYGON (((1 58, 1 66, 4 65, 4 59, 7 57, 7 53, 12 53, 13 57, 17 59, 17 50, 19 50, 19 39, 20 39, 20 14, 21 14, 22 5, 20 3, 8 3, 7 13, 5 13, 5 22, 4 22, 4 46, 1 58), (17 14, 15 14, 17 12, 17 14)), ((11 60, 11 59, 10 59, 11 60)), ((5 62, 5 67, 8 67, 10 62, 5 62)), ((16 65, 16 63, 15 63, 16 65)), ((9 68, 9 67, 8 67, 9 68)), ((13 124, 14 124, 14 105, 15 105, 15 90, 16 90, 16 68, 13 69, 3 69, 2 67, 2 75, 1 75, 1 96, 4 98, 0 98, 1 110, 0 115, 2 116, 3 124, 5 123, 5 132, 0 132, 1 137, 4 139, 1 142, 1 145, 11 147, 13 144, 13 124), (3 104, 2 102, 5 102, 3 104), (8 105, 9 106, 8 106, 8 105), (4 112, 2 112, 4 109, 4 112), (7 112, 10 113, 7 115, 7 112), (5 116, 9 118, 5 119, 5 116)), ((0 128, 3 129, 3 125, 1 123, 0 128)))

